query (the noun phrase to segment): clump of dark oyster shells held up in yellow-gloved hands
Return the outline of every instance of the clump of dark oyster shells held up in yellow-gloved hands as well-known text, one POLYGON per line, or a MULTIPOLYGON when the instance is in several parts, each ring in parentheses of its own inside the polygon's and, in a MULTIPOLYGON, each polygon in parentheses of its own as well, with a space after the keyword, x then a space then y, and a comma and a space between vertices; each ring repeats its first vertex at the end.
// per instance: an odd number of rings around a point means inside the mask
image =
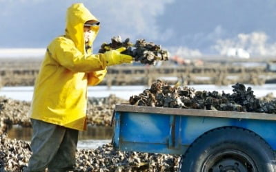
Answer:
POLYGON ((157 61, 168 61, 169 53, 162 50, 160 45, 148 43, 144 39, 138 39, 135 44, 130 42, 130 39, 121 40, 121 36, 114 36, 111 43, 103 43, 99 49, 99 53, 104 53, 108 50, 115 50, 119 47, 126 47, 122 54, 128 54, 135 61, 140 61, 142 64, 155 65, 157 61))

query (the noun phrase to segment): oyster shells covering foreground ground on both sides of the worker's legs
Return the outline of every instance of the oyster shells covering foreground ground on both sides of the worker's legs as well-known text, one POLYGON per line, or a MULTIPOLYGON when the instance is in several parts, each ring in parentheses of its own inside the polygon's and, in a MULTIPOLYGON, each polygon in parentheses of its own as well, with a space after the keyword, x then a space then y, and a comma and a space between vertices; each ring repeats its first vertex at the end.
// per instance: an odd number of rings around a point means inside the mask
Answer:
MULTIPOLYGON (((30 142, 0 134, 0 171, 22 171, 32 155, 30 142)), ((77 149, 72 171, 177 171, 179 155, 115 151, 112 144, 77 149)))

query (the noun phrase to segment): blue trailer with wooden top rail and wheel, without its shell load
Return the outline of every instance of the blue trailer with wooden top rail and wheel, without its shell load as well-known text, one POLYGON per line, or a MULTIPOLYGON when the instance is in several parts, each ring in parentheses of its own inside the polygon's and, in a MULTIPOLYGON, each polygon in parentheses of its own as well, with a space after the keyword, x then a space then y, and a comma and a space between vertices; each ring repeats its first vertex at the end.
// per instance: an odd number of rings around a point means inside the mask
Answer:
POLYGON ((113 146, 182 155, 180 171, 276 171, 276 115, 116 105, 113 146))

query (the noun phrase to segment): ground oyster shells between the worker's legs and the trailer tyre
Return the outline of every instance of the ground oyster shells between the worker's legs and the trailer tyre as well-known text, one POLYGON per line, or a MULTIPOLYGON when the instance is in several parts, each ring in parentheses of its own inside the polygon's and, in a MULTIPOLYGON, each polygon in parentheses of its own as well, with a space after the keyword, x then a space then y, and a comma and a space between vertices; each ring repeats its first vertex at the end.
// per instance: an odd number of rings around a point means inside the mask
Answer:
POLYGON ((75 169, 81 171, 177 171, 180 156, 115 151, 112 144, 77 151, 75 169))

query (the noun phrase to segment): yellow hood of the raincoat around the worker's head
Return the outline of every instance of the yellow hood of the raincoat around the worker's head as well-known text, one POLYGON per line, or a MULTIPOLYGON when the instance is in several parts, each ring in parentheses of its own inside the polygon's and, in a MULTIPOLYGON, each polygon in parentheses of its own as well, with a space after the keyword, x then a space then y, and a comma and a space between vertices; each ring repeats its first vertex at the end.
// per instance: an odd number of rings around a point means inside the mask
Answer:
MULTIPOLYGON (((93 16, 90 11, 83 6, 83 3, 75 3, 70 6, 66 14, 66 37, 74 41, 77 49, 85 53, 85 44, 83 38, 83 25, 86 21, 98 21, 95 16, 93 16)), ((90 46, 97 36, 99 29, 92 40, 90 40, 90 46)))

